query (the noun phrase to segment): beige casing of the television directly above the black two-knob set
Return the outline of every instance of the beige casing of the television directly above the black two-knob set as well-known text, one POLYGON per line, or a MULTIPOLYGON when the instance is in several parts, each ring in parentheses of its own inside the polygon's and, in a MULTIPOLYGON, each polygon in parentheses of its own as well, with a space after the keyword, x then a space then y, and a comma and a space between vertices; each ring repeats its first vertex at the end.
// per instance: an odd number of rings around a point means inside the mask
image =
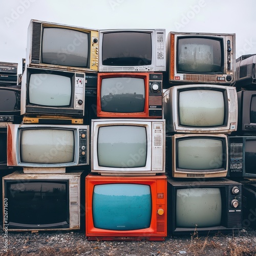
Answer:
MULTIPOLYGON (((225 134, 175 134, 166 136, 166 172, 172 173, 174 178, 220 178, 226 177, 228 171, 228 137, 225 134), (177 140, 186 140, 193 138, 209 138, 221 140, 223 147, 222 168, 212 169, 181 169, 177 168, 177 140)), ((216 159, 217 163, 220 159, 216 159)), ((213 163, 214 164, 214 163, 213 163)))

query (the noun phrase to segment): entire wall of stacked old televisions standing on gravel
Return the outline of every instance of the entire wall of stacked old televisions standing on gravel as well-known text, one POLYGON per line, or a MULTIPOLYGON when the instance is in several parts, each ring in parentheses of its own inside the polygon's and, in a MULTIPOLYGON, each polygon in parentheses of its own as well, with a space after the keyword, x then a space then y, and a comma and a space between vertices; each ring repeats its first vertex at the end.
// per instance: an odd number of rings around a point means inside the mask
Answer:
POLYGON ((164 241, 250 226, 255 59, 240 86, 235 48, 235 34, 166 43, 164 29, 32 19, 21 87, 0 80, 4 228, 164 241))

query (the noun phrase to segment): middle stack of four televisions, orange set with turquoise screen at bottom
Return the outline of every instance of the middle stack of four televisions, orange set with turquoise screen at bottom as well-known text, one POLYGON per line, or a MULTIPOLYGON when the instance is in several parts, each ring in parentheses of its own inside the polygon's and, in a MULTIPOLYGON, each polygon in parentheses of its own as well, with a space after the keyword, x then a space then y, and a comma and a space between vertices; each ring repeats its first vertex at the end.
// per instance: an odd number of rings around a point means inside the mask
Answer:
POLYGON ((86 177, 88 240, 167 236, 165 30, 99 31, 97 118, 86 177))

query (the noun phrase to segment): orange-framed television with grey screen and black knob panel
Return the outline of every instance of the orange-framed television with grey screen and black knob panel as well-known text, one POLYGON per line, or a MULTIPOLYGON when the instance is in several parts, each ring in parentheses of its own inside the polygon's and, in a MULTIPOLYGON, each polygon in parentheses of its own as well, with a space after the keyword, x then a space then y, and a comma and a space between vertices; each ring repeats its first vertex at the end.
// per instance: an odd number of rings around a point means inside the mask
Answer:
POLYGON ((162 73, 98 73, 97 116, 162 118, 162 73))

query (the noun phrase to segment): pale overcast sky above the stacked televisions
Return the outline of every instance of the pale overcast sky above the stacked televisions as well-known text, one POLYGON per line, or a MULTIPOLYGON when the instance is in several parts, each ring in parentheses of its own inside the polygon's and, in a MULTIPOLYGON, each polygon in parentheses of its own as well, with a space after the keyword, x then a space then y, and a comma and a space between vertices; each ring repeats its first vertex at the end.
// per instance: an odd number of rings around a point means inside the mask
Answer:
POLYGON ((30 19, 93 29, 236 33, 236 58, 256 54, 255 0, 9 0, 0 2, 0 61, 26 57, 30 19))

